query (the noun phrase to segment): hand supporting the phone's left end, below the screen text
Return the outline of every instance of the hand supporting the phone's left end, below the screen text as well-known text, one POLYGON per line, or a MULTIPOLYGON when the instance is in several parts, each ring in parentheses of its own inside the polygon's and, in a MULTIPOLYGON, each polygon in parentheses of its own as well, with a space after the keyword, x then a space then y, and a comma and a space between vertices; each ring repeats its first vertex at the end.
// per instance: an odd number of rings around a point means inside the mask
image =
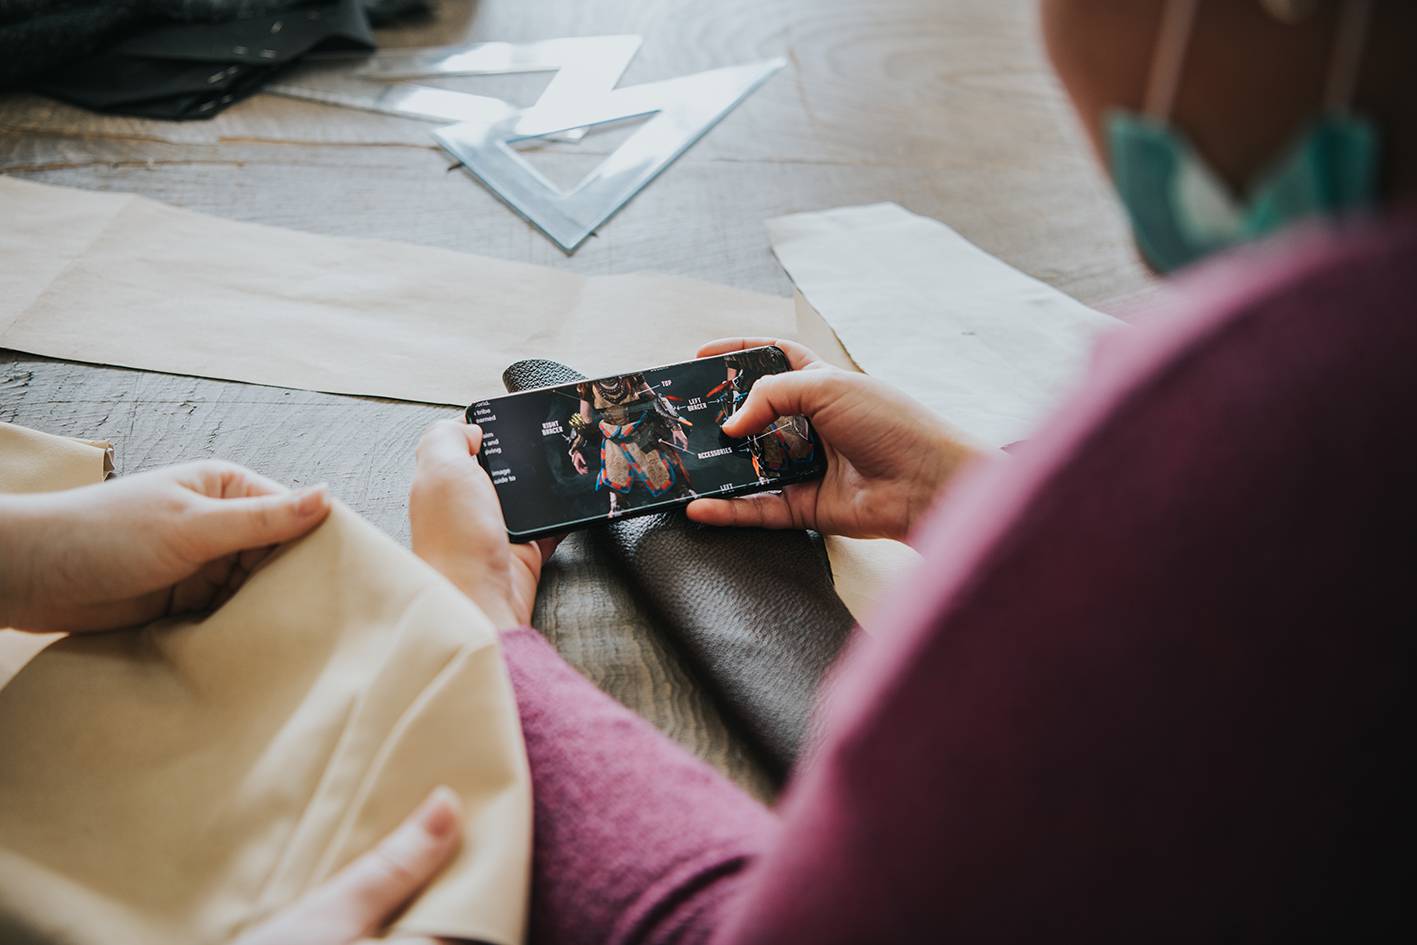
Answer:
POLYGON ((497 629, 526 626, 541 564, 554 538, 507 541, 497 492, 478 449, 482 428, 445 419, 418 442, 418 472, 408 494, 414 554, 472 598, 497 629))

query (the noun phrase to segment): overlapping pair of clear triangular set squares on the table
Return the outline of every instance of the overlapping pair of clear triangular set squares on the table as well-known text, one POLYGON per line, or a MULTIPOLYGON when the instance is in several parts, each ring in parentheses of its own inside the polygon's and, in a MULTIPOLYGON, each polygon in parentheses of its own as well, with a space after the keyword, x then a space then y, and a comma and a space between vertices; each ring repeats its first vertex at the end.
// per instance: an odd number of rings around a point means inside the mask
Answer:
POLYGON ((456 122, 434 132, 438 142, 503 203, 571 254, 786 65, 777 58, 615 88, 639 45, 638 35, 595 35, 390 50, 370 57, 353 72, 366 79, 363 85, 356 81, 351 86, 346 72, 343 85, 305 77, 269 85, 266 91, 402 118, 456 122), (490 95, 402 81, 517 72, 555 75, 530 108, 490 95), (645 116, 652 118, 571 190, 553 184, 512 149, 516 142, 537 137, 578 142, 597 126, 645 116))

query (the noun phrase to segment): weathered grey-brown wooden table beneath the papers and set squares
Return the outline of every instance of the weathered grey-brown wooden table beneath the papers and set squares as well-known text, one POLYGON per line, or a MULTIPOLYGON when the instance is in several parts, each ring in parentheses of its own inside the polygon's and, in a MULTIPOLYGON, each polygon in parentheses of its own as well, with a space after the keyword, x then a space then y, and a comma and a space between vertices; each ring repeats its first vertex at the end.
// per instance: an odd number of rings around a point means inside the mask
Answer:
MULTIPOLYGON (((682 273, 778 295, 791 283, 764 220, 890 200, 1094 306, 1115 312, 1148 292, 1027 0, 444 0, 436 20, 383 40, 604 33, 645 37, 625 84, 772 55, 789 67, 571 258, 449 171, 428 125, 272 95, 190 123, 9 96, 0 99, 0 171, 312 232, 577 272, 682 273)), ((544 82, 446 85, 530 102, 544 82)), ((533 163, 553 180, 574 180, 614 143, 550 146, 533 163)), ((405 541, 412 446, 446 415, 445 407, 0 351, 0 419, 111 439, 122 473, 222 456, 292 485, 327 480, 405 541)), ((769 793, 642 609, 580 541, 548 567, 536 619, 606 691, 750 791, 769 793)))

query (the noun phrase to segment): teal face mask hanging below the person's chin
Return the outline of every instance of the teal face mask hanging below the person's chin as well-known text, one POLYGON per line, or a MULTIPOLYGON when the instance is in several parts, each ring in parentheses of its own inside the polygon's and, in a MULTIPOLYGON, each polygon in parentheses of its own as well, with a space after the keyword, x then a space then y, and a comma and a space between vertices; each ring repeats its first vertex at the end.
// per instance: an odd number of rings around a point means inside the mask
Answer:
POLYGON ((1112 184, 1159 272, 1302 220, 1369 208, 1377 197, 1379 137, 1362 118, 1319 118, 1240 201, 1170 125, 1118 111, 1105 126, 1112 184))

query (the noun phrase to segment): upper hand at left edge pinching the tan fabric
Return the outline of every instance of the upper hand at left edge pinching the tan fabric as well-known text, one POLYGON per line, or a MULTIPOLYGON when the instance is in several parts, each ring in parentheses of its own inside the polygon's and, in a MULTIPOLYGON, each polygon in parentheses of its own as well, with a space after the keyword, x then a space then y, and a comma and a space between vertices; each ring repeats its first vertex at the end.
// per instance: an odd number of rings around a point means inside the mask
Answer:
POLYGON ((329 510, 323 486, 290 492, 218 460, 0 497, 0 626, 108 630, 205 611, 329 510))

